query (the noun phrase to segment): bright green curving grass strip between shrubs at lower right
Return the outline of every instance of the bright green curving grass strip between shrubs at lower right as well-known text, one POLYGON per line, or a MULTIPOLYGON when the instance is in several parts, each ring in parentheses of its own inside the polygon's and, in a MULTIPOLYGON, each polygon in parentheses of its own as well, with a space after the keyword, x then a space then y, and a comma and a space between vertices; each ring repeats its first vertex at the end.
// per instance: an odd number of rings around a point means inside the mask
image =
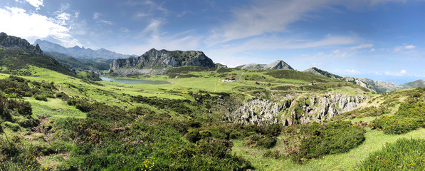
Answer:
MULTIPOLYGON (((243 140, 234 140, 233 152, 242 155, 250 160, 257 170, 352 170, 367 156, 377 150, 382 149, 385 143, 395 142, 399 138, 425 138, 425 128, 411 131, 404 135, 386 135, 380 130, 367 129, 366 140, 349 152, 338 155, 327 155, 317 160, 309 160, 300 165, 290 159, 271 159, 262 157, 266 150, 258 150, 246 147, 243 140)), ((283 151, 283 144, 278 138, 276 147, 271 150, 283 151)))

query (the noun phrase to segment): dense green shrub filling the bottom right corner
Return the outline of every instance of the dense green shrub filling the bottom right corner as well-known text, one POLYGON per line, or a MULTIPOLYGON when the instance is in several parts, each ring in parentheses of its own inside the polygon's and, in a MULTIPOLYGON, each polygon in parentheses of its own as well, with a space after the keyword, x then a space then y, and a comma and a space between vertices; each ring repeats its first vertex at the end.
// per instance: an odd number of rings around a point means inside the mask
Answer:
POLYGON ((425 140, 399 139, 373 152, 357 166, 357 170, 423 170, 425 140))

